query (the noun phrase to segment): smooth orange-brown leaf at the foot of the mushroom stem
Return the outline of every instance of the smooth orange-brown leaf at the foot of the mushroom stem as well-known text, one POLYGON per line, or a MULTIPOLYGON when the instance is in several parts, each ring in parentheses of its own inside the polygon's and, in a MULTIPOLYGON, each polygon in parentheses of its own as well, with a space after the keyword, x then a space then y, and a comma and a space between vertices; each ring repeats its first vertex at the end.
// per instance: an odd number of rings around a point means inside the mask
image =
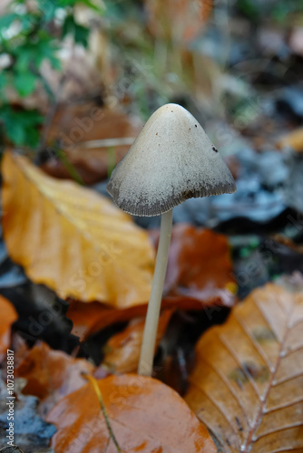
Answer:
MULTIPOLYGON (((186 403, 160 381, 127 374, 97 382, 123 452, 216 452, 186 403)), ((58 429, 52 440, 56 453, 117 451, 90 383, 59 401, 47 419, 58 429)))

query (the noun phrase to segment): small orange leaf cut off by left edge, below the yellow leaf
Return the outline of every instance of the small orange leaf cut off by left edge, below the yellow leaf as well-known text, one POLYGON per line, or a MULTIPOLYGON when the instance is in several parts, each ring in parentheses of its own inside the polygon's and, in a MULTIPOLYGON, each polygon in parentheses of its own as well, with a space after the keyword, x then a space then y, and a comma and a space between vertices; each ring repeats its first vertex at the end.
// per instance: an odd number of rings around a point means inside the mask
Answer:
POLYGON ((14 305, 0 295, 0 363, 4 360, 7 348, 11 343, 11 326, 18 315, 14 305))

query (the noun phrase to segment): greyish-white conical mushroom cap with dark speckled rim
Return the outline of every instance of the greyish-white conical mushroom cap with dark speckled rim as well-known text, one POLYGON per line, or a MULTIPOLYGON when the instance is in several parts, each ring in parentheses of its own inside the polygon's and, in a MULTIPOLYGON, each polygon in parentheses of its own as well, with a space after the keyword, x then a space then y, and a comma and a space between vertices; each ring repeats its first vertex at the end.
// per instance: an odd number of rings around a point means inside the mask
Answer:
POLYGON ((199 122, 178 104, 152 114, 107 185, 133 216, 158 216, 187 198, 236 190, 230 170, 199 122))

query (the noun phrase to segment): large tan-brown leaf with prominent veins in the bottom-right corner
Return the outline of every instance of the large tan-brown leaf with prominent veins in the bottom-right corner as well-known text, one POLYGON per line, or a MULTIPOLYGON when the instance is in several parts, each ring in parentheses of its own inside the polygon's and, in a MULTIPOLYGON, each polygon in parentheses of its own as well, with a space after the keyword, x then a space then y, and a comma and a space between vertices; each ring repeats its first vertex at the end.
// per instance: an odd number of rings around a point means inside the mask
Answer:
POLYGON ((303 451, 303 294, 267 284, 205 333, 186 396, 226 453, 303 451))

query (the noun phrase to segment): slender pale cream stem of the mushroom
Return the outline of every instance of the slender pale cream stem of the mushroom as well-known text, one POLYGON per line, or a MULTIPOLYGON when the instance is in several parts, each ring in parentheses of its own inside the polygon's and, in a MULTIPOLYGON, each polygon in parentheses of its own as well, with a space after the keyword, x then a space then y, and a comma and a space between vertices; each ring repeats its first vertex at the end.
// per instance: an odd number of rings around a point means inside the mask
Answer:
POLYGON ((148 304, 138 373, 152 376, 153 355, 158 332, 161 299, 171 244, 172 209, 161 215, 160 239, 148 304))

